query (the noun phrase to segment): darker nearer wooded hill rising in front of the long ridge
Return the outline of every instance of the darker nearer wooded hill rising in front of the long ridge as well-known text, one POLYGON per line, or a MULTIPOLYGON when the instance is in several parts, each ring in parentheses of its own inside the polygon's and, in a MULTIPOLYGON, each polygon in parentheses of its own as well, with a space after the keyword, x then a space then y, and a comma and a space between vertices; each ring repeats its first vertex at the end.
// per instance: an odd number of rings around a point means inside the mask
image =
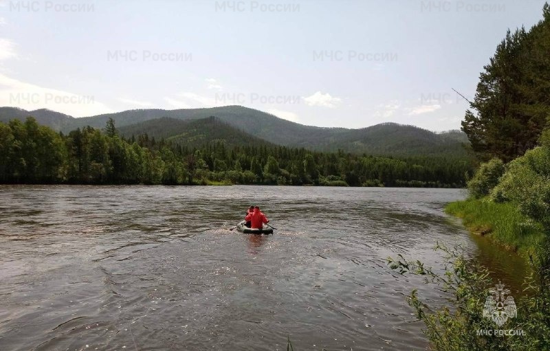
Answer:
POLYGON ((263 139, 248 135, 213 116, 187 121, 162 117, 123 126, 118 128, 118 131, 124 137, 137 137, 137 135, 146 133, 150 138, 165 139, 190 148, 201 147, 212 142, 221 142, 226 146, 270 144, 263 139))

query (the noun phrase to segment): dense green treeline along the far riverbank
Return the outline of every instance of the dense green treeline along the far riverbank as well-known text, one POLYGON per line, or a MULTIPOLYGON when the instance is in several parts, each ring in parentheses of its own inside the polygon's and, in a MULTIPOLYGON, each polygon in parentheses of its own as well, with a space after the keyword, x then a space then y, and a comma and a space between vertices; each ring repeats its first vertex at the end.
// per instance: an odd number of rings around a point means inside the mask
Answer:
POLYGON ((463 187, 474 165, 443 157, 373 157, 223 142, 186 148, 148 135, 104 131, 68 135, 34 118, 0 123, 0 183, 267 184, 463 187))

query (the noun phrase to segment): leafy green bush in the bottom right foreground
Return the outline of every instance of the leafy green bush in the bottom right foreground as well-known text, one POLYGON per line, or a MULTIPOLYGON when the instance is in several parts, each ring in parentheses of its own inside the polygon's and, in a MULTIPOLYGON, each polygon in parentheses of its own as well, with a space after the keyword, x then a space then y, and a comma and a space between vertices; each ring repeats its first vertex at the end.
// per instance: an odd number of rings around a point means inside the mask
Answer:
POLYGON ((532 275, 526 279, 526 293, 516 300, 517 317, 509 319, 502 328, 523 330, 525 335, 478 335, 478 330, 499 329, 483 317, 483 307, 489 288, 494 286, 489 271, 480 264, 467 260, 461 247, 448 249, 444 273, 436 273, 422 262, 411 262, 403 256, 388 258, 391 269, 402 275, 422 276, 426 284, 435 284, 446 296, 448 306, 433 308, 423 302, 417 291, 408 296, 419 320, 426 326, 424 333, 433 350, 439 351, 504 351, 549 350, 550 348, 550 267, 549 243, 538 249, 538 262, 532 275), (544 262, 543 262, 544 261, 544 262), (541 278, 538 278, 541 277, 541 278))

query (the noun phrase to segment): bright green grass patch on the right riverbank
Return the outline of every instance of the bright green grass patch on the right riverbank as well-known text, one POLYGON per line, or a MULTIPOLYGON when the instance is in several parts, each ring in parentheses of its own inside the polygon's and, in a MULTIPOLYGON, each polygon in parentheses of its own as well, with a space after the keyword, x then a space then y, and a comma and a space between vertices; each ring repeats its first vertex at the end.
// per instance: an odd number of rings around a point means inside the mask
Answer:
POLYGON ((528 258, 544 239, 540 223, 521 214, 514 203, 494 203, 487 199, 449 203, 445 212, 462 218, 474 234, 491 240, 528 258))

